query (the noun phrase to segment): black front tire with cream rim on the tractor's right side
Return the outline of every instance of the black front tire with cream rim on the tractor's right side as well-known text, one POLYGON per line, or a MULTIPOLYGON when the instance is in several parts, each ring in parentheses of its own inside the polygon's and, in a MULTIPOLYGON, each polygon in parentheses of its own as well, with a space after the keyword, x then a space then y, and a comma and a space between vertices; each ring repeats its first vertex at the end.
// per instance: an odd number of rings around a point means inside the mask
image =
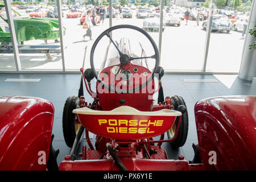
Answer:
MULTIPOLYGON (((177 108, 180 105, 184 105, 185 107, 187 107, 185 104, 185 101, 180 96, 171 97, 171 105, 174 106, 174 110, 177 110, 177 108)), ((178 122, 179 122, 179 117, 175 119, 174 125, 167 131, 167 136, 169 139, 174 138, 174 135, 177 132, 176 126, 178 122)), ((185 113, 182 114, 177 138, 174 141, 170 142, 171 146, 173 148, 182 147, 187 140, 187 136, 188 136, 188 111, 186 110, 185 113)))

